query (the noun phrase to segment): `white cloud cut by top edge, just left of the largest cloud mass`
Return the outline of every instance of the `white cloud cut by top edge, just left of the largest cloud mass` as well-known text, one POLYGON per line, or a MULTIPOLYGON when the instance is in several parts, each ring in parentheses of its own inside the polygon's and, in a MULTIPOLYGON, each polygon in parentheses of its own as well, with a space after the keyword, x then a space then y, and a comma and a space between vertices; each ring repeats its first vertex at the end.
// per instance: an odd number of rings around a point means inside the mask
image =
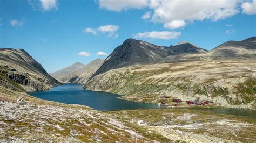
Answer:
POLYGON ((120 12, 123 9, 140 9, 147 6, 147 0, 99 0, 99 8, 120 12))

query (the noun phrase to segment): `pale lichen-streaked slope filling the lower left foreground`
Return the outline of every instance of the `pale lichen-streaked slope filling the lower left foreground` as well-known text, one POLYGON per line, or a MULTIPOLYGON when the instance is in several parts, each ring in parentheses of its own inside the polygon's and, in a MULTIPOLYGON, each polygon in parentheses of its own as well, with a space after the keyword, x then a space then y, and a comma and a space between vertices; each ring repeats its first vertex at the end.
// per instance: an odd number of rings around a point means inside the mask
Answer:
POLYGON ((150 141, 112 115, 86 106, 0 91, 0 141, 150 141))

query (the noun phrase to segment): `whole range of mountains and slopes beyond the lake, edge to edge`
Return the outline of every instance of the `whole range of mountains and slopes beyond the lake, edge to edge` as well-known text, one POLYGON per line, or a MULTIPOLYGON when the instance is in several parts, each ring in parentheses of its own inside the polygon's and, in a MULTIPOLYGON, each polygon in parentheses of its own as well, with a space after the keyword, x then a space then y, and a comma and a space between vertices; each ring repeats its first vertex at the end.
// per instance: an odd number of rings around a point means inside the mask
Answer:
POLYGON ((256 37, 227 41, 211 51, 190 42, 157 46, 127 39, 104 59, 77 62, 49 75, 23 49, 0 49, 0 85, 16 91, 49 90, 63 83, 157 103, 159 95, 213 99, 223 106, 256 108, 256 37), (53 77, 55 78, 53 78, 53 77), (248 91, 248 92, 247 92, 248 91))

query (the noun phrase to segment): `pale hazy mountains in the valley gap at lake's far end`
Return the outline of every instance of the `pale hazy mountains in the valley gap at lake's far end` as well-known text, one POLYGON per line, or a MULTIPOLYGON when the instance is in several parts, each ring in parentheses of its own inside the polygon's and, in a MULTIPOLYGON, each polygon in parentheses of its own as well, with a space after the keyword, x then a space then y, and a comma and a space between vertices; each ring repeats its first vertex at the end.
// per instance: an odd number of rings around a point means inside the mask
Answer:
POLYGON ((105 59, 96 59, 87 65, 77 62, 50 75, 63 83, 82 84, 86 82, 93 73, 95 73, 95 71, 102 65, 104 60, 105 59))

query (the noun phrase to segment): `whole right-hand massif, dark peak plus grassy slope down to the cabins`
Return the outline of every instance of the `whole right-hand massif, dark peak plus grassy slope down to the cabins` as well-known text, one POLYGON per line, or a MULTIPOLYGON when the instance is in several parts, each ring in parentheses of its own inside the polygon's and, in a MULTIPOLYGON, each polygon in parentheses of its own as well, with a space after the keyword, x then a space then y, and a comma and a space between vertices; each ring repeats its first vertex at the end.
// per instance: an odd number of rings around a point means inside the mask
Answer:
POLYGON ((139 102, 158 103, 163 95, 184 101, 197 96, 221 106, 256 109, 255 41, 227 41, 206 51, 189 42, 167 47, 128 39, 84 88, 139 102))

